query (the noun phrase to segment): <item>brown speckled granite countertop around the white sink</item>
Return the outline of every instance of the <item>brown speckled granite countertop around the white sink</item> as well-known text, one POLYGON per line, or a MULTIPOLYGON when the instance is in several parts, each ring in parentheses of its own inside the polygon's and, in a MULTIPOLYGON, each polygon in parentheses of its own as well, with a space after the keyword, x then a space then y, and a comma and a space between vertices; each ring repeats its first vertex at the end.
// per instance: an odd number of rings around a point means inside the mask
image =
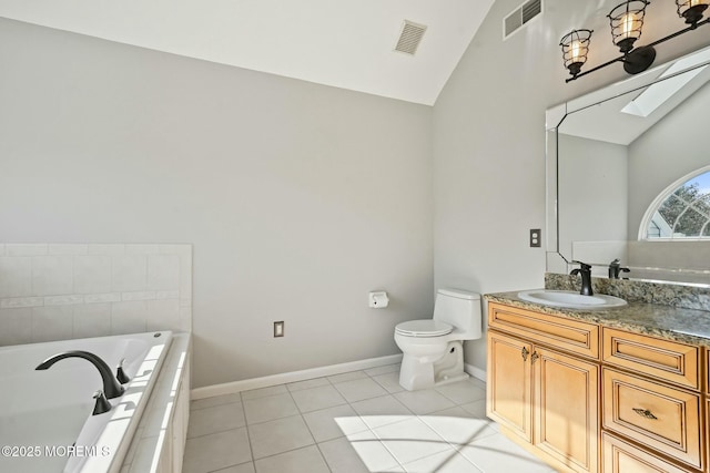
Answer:
POLYGON ((518 292, 486 294, 484 298, 489 302, 500 302, 635 333, 710 347, 710 312, 706 310, 646 302, 629 302, 627 306, 608 309, 568 309, 529 302, 520 299, 518 292))

